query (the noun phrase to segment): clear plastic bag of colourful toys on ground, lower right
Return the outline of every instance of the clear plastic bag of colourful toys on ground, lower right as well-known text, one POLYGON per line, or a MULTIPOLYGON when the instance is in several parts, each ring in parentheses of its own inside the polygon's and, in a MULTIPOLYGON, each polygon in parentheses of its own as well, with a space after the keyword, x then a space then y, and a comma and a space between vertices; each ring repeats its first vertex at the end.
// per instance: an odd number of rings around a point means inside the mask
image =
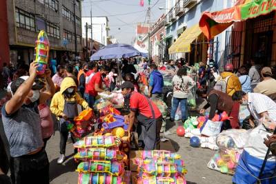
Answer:
POLYGON ((234 174, 239 156, 248 141, 250 130, 231 129, 221 132, 216 139, 219 150, 208 163, 211 170, 224 174, 234 174))

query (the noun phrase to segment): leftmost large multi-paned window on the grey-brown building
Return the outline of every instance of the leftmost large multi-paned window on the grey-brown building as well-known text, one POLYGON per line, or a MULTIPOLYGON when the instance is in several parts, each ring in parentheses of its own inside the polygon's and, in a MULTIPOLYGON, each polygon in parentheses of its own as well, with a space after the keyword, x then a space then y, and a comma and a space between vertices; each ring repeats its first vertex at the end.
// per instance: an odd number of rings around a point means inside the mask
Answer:
POLYGON ((25 28, 26 30, 35 30, 34 27, 34 15, 21 10, 15 9, 15 20, 17 21, 17 27, 25 28))

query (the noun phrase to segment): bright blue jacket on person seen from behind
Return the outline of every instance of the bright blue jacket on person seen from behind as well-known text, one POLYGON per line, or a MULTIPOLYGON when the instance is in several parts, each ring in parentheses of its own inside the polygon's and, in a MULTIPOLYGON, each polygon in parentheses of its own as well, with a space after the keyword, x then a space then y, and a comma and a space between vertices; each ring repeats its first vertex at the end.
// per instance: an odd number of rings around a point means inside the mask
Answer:
POLYGON ((152 94, 162 92, 164 81, 162 74, 158 70, 153 70, 150 73, 150 86, 152 87, 152 94))

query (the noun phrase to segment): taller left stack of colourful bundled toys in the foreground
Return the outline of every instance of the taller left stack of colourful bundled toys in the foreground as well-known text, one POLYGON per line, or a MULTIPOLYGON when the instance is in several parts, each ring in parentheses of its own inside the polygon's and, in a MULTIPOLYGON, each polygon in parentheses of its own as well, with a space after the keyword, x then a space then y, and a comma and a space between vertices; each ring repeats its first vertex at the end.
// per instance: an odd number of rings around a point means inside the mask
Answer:
POLYGON ((125 168, 128 157, 119 150, 120 139, 115 136, 88 136, 74 144, 74 156, 82 161, 77 167, 79 184, 130 183, 130 172, 125 168))

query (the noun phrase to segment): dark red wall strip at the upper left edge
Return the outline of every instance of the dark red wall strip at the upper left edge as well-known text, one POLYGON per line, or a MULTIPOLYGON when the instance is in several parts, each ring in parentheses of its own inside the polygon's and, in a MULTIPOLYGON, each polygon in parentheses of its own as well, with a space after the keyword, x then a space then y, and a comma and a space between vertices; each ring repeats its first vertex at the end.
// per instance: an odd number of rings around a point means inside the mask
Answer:
POLYGON ((3 63, 10 63, 8 17, 6 0, 0 1, 0 71, 3 63))

